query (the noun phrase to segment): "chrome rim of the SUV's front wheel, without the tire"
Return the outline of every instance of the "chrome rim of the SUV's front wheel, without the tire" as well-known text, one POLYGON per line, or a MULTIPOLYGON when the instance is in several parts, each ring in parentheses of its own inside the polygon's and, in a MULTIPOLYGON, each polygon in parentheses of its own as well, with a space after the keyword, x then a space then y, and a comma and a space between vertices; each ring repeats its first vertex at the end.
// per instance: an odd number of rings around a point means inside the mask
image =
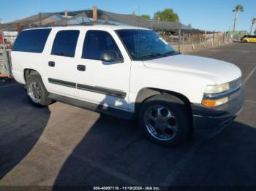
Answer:
POLYGON ((166 106, 149 107, 144 114, 144 122, 148 133, 161 141, 173 139, 178 131, 176 116, 166 106))

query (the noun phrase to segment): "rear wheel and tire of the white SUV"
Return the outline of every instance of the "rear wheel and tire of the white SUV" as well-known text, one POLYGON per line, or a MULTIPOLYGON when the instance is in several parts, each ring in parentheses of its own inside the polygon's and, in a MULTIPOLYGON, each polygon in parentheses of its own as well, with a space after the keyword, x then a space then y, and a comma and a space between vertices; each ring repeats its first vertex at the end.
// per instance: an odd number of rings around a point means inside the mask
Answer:
POLYGON ((31 75, 26 80, 26 92, 31 104, 37 107, 48 106, 53 101, 48 98, 48 91, 39 75, 31 75))

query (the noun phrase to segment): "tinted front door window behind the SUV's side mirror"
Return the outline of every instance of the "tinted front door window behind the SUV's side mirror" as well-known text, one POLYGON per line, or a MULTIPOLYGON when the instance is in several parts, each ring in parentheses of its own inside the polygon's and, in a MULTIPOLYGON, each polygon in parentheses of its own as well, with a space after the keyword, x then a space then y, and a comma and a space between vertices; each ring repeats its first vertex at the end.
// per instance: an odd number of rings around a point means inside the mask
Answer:
POLYGON ((122 58, 115 40, 108 32, 87 31, 83 42, 82 58, 100 60, 100 56, 105 50, 114 50, 118 53, 118 57, 122 58))

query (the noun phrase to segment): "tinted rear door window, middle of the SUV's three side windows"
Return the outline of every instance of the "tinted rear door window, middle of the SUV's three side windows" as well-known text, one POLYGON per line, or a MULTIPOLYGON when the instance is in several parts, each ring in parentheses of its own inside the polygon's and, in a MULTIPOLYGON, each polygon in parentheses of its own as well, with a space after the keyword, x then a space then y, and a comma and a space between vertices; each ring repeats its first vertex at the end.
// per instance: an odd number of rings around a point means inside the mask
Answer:
POLYGON ((51 54, 74 57, 79 32, 75 30, 59 31, 55 36, 51 54))

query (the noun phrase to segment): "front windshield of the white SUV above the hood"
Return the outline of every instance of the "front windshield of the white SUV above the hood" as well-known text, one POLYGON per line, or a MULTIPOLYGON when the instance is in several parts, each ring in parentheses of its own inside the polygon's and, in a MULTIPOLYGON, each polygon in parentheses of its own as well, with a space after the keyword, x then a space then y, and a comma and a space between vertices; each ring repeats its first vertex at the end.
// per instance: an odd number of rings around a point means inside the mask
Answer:
POLYGON ((116 33, 133 60, 154 59, 178 54, 154 31, 125 29, 117 30, 116 33))

